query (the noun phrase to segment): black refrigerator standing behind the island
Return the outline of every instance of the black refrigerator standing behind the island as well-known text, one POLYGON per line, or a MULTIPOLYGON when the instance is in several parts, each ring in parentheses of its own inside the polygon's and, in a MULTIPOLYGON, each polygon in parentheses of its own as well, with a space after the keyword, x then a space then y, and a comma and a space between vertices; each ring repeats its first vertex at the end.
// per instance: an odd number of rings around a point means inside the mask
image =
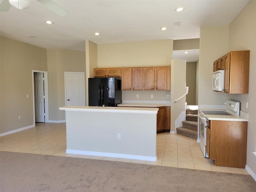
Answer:
POLYGON ((89 78, 89 106, 117 106, 122 102, 121 80, 89 78))

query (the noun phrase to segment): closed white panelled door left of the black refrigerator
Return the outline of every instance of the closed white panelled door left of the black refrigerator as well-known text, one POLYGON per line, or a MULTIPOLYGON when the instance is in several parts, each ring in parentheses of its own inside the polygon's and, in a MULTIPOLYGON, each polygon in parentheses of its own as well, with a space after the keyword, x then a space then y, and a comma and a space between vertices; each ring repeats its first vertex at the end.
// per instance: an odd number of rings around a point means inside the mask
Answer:
POLYGON ((84 72, 65 72, 66 106, 84 106, 84 72))

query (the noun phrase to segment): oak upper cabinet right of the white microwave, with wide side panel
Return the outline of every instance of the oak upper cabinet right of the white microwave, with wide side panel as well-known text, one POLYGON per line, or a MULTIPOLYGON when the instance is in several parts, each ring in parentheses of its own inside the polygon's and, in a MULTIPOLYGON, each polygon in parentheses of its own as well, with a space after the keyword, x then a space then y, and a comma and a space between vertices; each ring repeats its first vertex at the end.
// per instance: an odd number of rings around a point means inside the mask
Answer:
POLYGON ((224 92, 248 94, 250 50, 231 51, 224 56, 224 92))

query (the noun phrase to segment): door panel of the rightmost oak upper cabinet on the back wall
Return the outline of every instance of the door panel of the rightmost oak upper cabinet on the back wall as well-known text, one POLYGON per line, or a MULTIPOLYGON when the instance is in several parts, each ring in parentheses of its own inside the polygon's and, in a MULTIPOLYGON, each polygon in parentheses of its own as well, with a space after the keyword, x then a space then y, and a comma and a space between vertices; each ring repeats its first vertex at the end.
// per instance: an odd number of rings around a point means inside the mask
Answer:
POLYGON ((167 66, 156 67, 156 90, 166 90, 167 66))

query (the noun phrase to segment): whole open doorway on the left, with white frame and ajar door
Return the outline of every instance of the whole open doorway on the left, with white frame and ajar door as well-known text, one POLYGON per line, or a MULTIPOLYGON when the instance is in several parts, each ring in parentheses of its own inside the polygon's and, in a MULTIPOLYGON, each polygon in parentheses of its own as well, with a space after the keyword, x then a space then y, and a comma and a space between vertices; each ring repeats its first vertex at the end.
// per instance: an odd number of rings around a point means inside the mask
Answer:
POLYGON ((34 125, 36 122, 49 122, 48 73, 32 70, 34 125))

